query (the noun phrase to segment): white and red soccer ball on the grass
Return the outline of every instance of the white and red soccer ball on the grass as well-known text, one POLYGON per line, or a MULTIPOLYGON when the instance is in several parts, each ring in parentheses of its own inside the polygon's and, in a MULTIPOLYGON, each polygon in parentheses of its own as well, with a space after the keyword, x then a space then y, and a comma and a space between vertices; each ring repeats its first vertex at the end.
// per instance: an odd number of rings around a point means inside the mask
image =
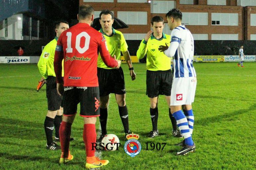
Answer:
POLYGON ((114 151, 120 145, 118 137, 114 134, 105 135, 101 143, 104 144, 105 150, 108 150, 108 151, 114 151))

